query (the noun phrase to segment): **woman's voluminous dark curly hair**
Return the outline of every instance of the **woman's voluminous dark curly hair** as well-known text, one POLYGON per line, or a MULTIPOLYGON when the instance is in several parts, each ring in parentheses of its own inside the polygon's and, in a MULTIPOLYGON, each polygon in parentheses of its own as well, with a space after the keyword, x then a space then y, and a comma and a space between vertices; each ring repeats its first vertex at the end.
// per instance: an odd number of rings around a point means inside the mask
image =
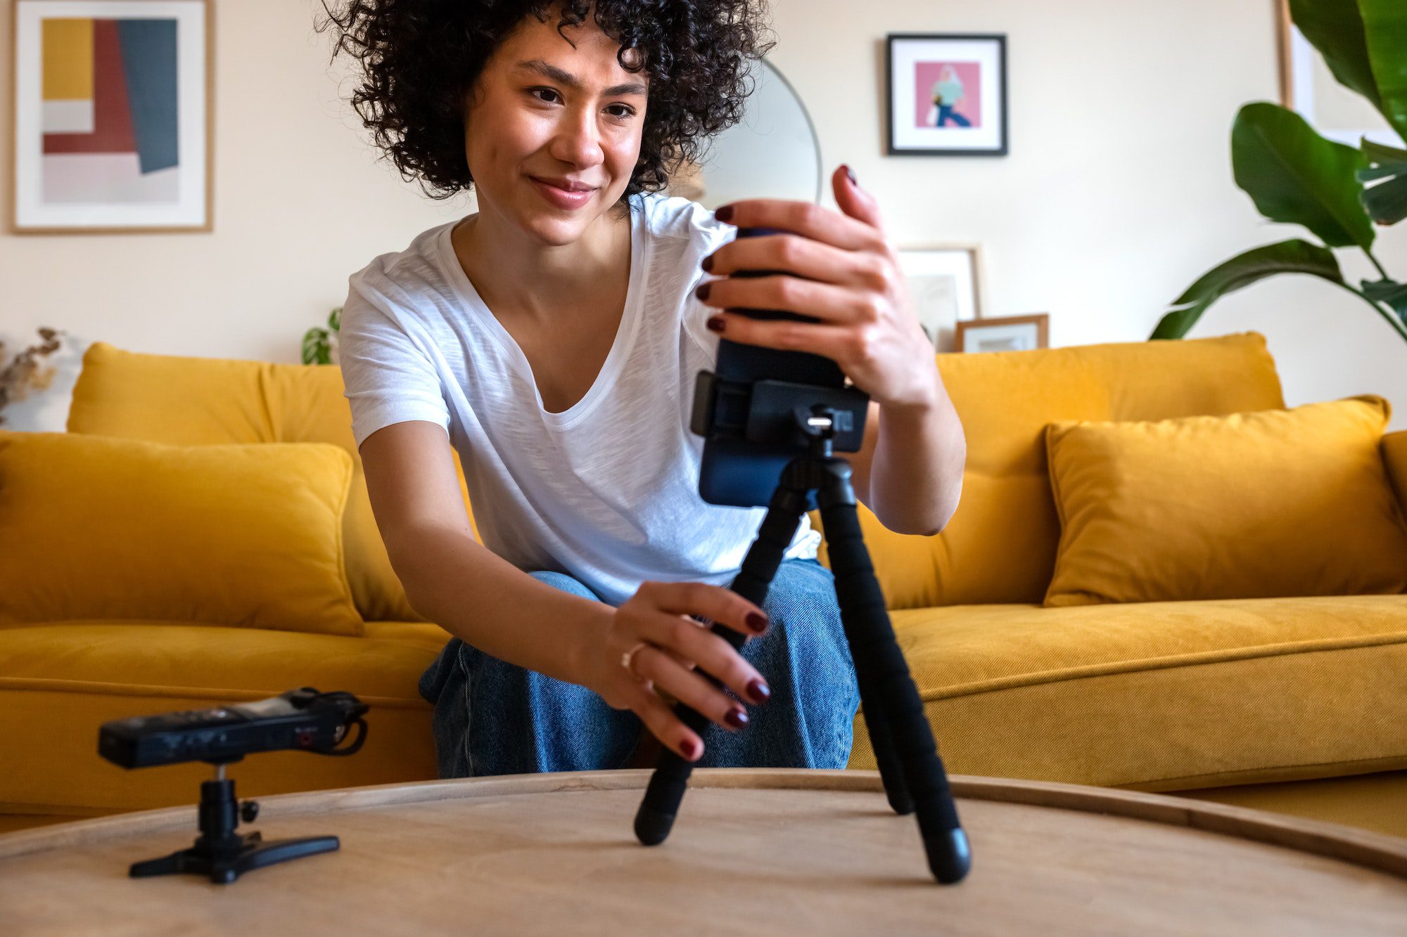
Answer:
MULTIPOLYGON (((760 0, 350 0, 314 28, 338 27, 338 52, 362 63, 352 96, 376 145, 431 198, 449 198, 474 179, 464 160, 464 98, 484 63, 523 17, 546 23, 560 8, 557 32, 588 13, 620 49, 628 72, 647 70, 649 100, 640 160, 622 201, 660 191, 674 172, 696 162, 709 138, 743 118, 749 59, 763 44, 760 0), (628 65, 626 52, 632 53, 628 65)), ((567 38, 563 34, 563 38, 567 38)), ((568 39, 570 42, 570 39, 568 39)))

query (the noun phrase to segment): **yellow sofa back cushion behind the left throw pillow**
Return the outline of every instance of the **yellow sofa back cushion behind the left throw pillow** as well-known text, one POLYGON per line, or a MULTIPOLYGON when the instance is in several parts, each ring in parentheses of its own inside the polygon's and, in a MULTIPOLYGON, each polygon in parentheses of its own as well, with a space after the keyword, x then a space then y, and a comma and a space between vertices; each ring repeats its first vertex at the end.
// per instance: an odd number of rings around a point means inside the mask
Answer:
MULTIPOLYGON (((70 433, 100 433, 179 445, 324 442, 352 456, 342 515, 348 580, 362 618, 424 620, 405 599, 371 514, 342 371, 177 355, 145 355, 93 342, 73 387, 70 433)), ((454 453, 460 495, 469 488, 454 453)), ((470 525, 474 523, 470 514, 470 525)))

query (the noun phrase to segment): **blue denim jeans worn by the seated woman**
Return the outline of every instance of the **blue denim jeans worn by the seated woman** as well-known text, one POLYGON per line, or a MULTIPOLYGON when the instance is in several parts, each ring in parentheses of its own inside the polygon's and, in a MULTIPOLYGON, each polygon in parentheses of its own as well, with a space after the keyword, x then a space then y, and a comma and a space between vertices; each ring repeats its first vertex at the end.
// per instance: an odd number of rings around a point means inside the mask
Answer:
MULTIPOLYGON (((556 571, 530 575, 601 601, 556 571)), ((737 732, 709 723, 696 767, 844 768, 860 706, 850 646, 840 625, 834 574, 816 560, 784 560, 767 591, 765 635, 741 656, 771 698, 749 705, 737 732)), ((585 687, 505 663, 454 637, 421 675, 435 705, 440 778, 620 768, 647 732, 629 709, 612 709, 585 687)))

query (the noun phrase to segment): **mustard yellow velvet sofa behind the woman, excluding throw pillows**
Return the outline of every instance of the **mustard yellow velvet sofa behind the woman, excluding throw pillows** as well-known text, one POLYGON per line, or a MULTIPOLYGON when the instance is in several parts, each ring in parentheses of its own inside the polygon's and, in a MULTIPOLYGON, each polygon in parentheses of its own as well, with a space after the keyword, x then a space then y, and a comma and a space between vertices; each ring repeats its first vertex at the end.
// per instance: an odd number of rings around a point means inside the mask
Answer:
MULTIPOLYGON (((1041 606, 1059 540, 1043 428, 1283 408, 1263 338, 938 363, 968 439, 961 505, 934 537, 861 518, 948 771, 1175 792, 1407 836, 1407 595, 1041 606)), ((0 627, 0 830, 193 803, 208 765, 125 771, 97 756, 98 725, 303 685, 370 703, 364 747, 252 756, 229 768, 241 796, 436 777, 416 678, 449 635, 409 608, 391 571, 349 423, 336 367, 89 348, 69 433, 352 454, 342 532, 364 633, 0 627)), ((1407 432, 1382 449, 1407 501, 1407 432)), ((860 719, 851 767, 874 767, 860 719)))

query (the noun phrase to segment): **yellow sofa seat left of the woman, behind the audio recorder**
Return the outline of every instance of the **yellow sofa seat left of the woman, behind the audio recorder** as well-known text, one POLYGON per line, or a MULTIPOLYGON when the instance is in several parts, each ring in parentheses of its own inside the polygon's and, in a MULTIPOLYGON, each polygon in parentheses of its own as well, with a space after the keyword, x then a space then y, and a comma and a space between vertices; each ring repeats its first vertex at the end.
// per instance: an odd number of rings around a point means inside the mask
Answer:
POLYGON ((414 627, 401 637, 386 635, 397 632, 345 637, 145 620, 3 627, 0 751, 8 764, 0 771, 0 812, 196 803, 200 782, 214 777, 212 765, 121 768, 98 757, 98 726, 265 699, 297 687, 345 689, 367 703, 366 744, 340 758, 307 751, 246 756, 227 767, 236 796, 435 779, 432 706, 421 699, 416 681, 438 646, 416 642, 414 627))

